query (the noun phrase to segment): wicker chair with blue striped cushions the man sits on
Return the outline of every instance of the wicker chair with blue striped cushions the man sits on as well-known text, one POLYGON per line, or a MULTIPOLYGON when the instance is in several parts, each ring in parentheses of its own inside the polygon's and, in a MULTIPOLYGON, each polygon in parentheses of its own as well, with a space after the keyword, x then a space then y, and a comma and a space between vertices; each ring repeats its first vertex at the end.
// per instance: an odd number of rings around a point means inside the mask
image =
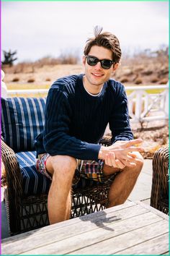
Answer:
MULTIPOLYGON (((1 158, 9 234, 48 225, 48 191, 50 180, 35 167, 35 137, 42 132, 45 98, 1 98, 1 158)), ((110 144, 110 137, 101 140, 110 144)), ((80 179, 73 185, 71 218, 103 210, 110 183, 80 179)))

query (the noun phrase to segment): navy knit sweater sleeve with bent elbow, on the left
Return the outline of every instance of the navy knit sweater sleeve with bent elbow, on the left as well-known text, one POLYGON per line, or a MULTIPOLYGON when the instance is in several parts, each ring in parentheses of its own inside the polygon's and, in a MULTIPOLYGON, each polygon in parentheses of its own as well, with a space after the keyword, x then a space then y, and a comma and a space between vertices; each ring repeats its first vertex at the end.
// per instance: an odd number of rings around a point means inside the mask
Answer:
POLYGON ((71 111, 68 95, 51 88, 45 108, 45 151, 50 155, 70 155, 73 158, 97 161, 101 145, 83 142, 69 135, 71 111))

